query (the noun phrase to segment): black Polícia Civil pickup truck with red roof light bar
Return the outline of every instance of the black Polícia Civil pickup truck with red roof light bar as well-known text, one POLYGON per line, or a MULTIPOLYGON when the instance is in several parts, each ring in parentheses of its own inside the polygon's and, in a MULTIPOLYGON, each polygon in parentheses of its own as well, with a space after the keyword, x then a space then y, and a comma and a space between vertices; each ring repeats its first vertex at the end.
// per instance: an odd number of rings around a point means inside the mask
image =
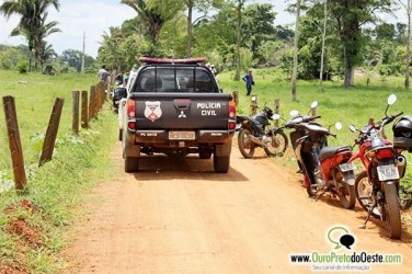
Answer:
POLYGON ((145 65, 122 107, 125 171, 136 172, 142 155, 210 159, 215 172, 230 167, 236 104, 219 90, 204 58, 140 57, 145 65))

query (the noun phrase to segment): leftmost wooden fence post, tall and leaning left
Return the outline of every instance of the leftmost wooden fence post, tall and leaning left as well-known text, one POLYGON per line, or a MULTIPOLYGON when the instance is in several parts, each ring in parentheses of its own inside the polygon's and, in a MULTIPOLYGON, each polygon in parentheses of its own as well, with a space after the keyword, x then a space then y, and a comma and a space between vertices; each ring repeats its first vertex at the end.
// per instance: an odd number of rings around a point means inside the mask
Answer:
POLYGON ((24 170, 22 142, 20 140, 18 115, 13 96, 3 96, 5 125, 8 127, 9 147, 13 164, 14 185, 16 190, 23 190, 27 183, 24 170))

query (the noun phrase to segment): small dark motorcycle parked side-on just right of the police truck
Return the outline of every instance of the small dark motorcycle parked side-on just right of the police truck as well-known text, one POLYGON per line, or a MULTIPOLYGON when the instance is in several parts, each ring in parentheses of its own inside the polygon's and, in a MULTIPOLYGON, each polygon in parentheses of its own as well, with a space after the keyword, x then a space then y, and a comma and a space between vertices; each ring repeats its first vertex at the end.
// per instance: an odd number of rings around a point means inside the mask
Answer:
POLYGON ((251 117, 237 116, 238 147, 244 158, 252 158, 255 148, 263 148, 268 157, 283 156, 288 139, 283 128, 271 125, 273 111, 263 107, 261 113, 251 117))

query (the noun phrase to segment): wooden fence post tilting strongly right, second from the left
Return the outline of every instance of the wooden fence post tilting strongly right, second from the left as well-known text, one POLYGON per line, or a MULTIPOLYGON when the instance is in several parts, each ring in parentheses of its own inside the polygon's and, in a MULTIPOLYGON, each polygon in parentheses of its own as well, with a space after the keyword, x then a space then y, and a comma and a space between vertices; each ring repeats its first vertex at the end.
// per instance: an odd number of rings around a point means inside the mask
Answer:
POLYGON ((65 99, 57 98, 55 101, 55 105, 53 106, 50 119, 47 126, 46 137, 43 142, 42 156, 38 162, 38 167, 52 160, 53 150, 55 149, 57 130, 59 129, 60 116, 61 116, 64 103, 65 103, 65 99))

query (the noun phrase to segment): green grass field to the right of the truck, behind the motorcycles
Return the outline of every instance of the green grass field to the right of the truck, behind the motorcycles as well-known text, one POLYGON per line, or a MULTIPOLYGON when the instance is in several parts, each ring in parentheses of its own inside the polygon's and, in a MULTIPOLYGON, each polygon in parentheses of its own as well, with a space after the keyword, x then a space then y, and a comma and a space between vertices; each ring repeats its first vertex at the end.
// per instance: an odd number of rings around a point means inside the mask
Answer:
MULTIPOLYGON (((366 80, 362 76, 355 76, 355 87, 344 89, 342 80, 324 82, 324 92, 319 91, 319 81, 298 81, 297 101, 291 101, 291 84, 285 80, 285 76, 278 71, 265 69, 254 70, 254 81, 252 94, 258 95, 259 105, 267 105, 274 109, 275 99, 281 100, 281 116, 288 119, 291 110, 298 110, 301 114, 310 111, 312 101, 318 101, 317 114, 322 117, 318 121, 329 126, 336 122, 343 124, 342 130, 334 127, 331 132, 337 135, 337 138, 330 138, 330 145, 348 146, 354 145, 357 134, 348 130, 348 125, 353 124, 362 128, 367 124, 369 117, 380 121, 385 116, 387 99, 391 93, 397 94, 398 101, 390 106, 389 114, 397 114, 403 111, 405 114, 412 114, 412 90, 403 89, 403 78, 389 77, 382 84, 379 78, 371 80, 371 84, 366 87, 366 80)), ((243 81, 233 81, 233 72, 219 75, 219 85, 225 92, 239 91, 240 103, 238 105, 239 114, 249 114, 250 98, 245 96, 245 87, 243 81)), ((282 124, 282 123, 281 123, 282 124)), ((392 125, 386 127, 387 136, 392 139, 392 125)), ((356 150, 357 148, 355 148, 356 150)), ((412 156, 403 153, 409 162, 412 162, 412 156)), ((286 157, 286 165, 295 165, 296 162, 286 157)), ((282 162, 282 159, 276 159, 282 162)), ((360 162, 358 163, 360 165, 360 162)), ((412 176, 412 168, 407 169, 408 176, 412 176)), ((412 186, 412 185, 411 185, 412 186)))

